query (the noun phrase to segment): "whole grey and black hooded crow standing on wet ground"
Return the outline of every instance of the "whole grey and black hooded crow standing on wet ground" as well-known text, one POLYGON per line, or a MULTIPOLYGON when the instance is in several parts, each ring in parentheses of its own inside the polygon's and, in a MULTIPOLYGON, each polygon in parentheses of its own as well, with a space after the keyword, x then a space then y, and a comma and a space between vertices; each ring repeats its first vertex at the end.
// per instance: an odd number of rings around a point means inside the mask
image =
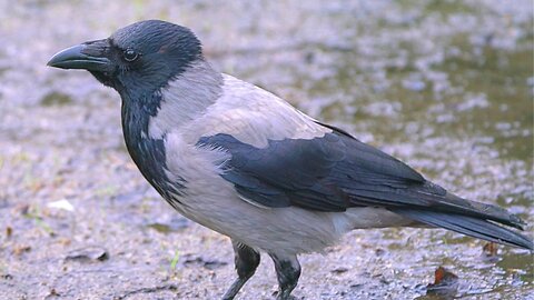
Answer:
POLYGON ((56 53, 48 66, 89 71, 121 98, 128 152, 186 218, 230 238, 234 299, 260 253, 277 299, 291 299, 298 256, 355 229, 444 228, 533 250, 525 223, 471 201, 284 99, 217 71, 188 28, 145 20, 56 53))

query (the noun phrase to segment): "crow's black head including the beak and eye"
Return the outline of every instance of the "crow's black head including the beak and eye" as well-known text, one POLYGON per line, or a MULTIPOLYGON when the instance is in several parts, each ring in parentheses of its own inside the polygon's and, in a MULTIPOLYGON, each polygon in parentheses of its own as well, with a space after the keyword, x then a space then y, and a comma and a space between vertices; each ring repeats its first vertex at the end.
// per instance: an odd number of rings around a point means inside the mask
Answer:
POLYGON ((187 28, 147 20, 117 30, 105 40, 62 50, 48 66, 85 69, 130 97, 151 93, 202 59, 200 41, 187 28))

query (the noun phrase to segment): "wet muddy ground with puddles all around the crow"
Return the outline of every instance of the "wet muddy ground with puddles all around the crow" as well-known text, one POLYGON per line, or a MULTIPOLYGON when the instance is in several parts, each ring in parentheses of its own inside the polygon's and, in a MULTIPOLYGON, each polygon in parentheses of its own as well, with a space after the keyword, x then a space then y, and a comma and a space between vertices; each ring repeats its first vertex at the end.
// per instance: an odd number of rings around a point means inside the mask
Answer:
MULTIPOLYGON (((140 19, 192 28, 224 72, 534 226, 532 1, 0 1, 0 299, 216 299, 227 238, 126 152, 119 97, 56 51, 140 19)), ((297 299, 533 299, 533 256, 444 230, 354 231, 303 256, 297 299)), ((240 299, 271 299, 264 258, 240 299)))

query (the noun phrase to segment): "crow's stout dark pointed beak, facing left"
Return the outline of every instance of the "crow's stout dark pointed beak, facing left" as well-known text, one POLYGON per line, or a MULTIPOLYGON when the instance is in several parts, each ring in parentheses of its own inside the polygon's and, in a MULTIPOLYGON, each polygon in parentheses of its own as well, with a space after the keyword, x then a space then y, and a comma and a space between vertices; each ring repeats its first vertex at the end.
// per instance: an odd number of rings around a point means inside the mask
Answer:
POLYGON ((107 40, 97 40, 77 44, 56 53, 47 66, 61 69, 85 69, 88 71, 108 71, 110 60, 106 58, 107 40))

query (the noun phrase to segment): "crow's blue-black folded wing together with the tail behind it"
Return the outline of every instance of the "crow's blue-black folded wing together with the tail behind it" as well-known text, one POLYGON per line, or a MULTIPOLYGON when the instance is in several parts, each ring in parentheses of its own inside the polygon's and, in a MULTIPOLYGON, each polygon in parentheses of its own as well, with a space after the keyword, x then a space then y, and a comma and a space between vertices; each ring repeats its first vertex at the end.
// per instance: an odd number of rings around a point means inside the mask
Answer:
MULTIPOLYGON (((380 207, 416 221, 493 240, 504 238, 500 232, 495 237, 475 234, 468 223, 461 228, 456 222, 493 220, 522 229, 523 222, 504 209, 451 194, 402 161, 329 128, 334 132, 320 138, 269 141, 261 149, 229 134, 204 137, 198 146, 228 151, 231 159, 221 177, 234 183, 241 197, 260 206, 316 211, 380 207), (443 217, 439 221, 428 218, 436 213, 443 217)), ((532 248, 531 241, 513 234, 517 240, 508 243, 532 248)))

